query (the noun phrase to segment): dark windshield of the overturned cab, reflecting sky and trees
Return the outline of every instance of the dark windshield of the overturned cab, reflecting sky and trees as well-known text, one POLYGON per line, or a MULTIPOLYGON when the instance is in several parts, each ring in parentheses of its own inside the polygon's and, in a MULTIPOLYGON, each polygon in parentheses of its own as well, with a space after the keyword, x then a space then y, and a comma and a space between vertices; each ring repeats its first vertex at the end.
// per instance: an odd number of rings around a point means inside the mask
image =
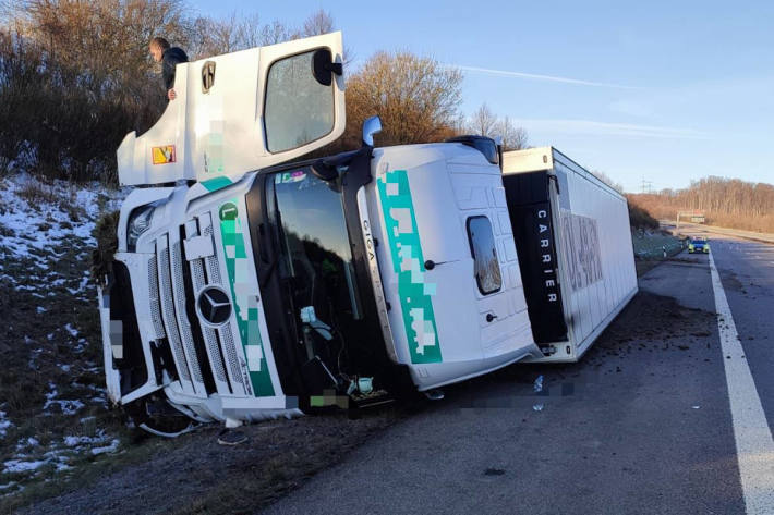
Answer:
POLYGON ((297 321, 312 306, 317 319, 346 334, 362 316, 341 193, 309 169, 276 173, 267 186, 279 272, 289 283, 297 321))

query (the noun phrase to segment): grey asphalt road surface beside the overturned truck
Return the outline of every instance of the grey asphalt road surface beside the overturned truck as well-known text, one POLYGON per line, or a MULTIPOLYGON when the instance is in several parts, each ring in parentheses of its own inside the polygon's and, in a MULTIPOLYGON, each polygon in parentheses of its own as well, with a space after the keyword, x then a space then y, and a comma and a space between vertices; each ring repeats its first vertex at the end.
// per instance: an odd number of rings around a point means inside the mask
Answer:
MULTIPOLYGON (((711 245, 772 428, 774 245, 711 245)), ((266 513, 746 513, 709 257, 682 253, 640 291, 579 364, 449 388, 266 513)))

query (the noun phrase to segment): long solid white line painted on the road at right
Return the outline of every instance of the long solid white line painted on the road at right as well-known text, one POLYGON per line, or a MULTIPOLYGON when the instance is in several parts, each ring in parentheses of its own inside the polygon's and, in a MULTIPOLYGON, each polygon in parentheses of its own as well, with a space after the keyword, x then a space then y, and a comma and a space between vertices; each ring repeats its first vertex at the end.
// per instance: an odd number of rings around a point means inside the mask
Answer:
POLYGON ((712 254, 710 270, 747 514, 774 514, 774 440, 712 254))

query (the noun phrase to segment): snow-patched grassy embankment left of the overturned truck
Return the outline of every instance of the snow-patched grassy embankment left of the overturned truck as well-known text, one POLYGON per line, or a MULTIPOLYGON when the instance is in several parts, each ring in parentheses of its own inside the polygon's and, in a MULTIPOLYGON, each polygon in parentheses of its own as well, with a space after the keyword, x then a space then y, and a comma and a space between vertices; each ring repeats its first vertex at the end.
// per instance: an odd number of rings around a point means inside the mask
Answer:
POLYGON ((96 290, 96 185, 0 181, 0 512, 97 471, 131 430, 107 409, 96 290))

